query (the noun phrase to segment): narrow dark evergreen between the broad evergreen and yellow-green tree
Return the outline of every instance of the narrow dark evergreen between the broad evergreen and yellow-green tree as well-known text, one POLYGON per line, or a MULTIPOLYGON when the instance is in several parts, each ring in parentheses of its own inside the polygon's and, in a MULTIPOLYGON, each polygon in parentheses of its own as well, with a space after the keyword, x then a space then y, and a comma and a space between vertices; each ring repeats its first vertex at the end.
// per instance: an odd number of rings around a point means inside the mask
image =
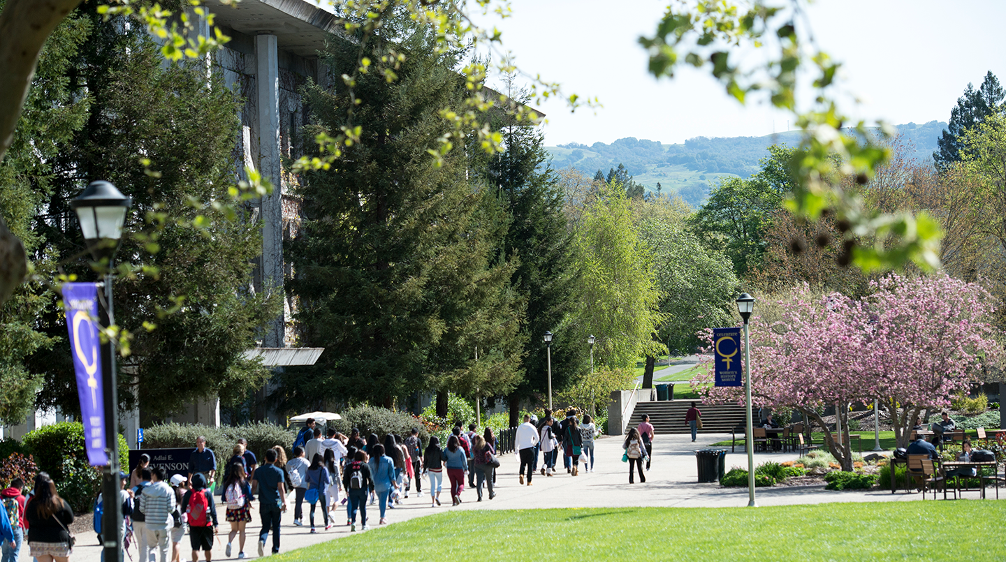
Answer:
MULTIPOLYGON (((570 232, 562 213, 563 195, 547 165, 540 131, 513 123, 503 128, 505 152, 489 163, 489 181, 510 215, 504 252, 518 262, 512 285, 527 302, 521 324, 522 380, 510 393, 510 424, 518 423, 522 398, 548 389, 542 335, 555 331, 569 312, 570 232)), ((601 174, 601 171, 598 171, 601 174)), ((603 177, 603 176, 602 176, 603 177)), ((561 388, 582 363, 583 342, 556 334, 552 345, 552 387, 561 388)))

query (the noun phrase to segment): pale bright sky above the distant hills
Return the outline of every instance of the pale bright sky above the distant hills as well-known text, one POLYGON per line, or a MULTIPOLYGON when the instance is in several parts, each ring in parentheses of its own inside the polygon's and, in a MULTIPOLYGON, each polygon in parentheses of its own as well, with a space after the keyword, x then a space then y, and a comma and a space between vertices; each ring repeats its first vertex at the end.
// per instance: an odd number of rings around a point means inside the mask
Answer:
MULTIPOLYGON (((660 80, 647 72, 646 51, 637 39, 653 34, 666 2, 511 5, 512 17, 479 21, 499 27, 521 71, 560 82, 566 95, 598 97, 604 106, 572 114, 559 100, 534 106, 547 115, 546 145, 625 137, 681 143, 788 128, 790 115, 767 103, 740 106, 707 71, 683 67, 675 78, 660 80)), ((842 109, 870 124, 946 122, 968 82, 977 87, 989 70, 1006 78, 1006 40, 999 39, 1006 2, 818 0, 807 6, 807 15, 817 44, 843 62, 844 88, 860 99, 842 109)))

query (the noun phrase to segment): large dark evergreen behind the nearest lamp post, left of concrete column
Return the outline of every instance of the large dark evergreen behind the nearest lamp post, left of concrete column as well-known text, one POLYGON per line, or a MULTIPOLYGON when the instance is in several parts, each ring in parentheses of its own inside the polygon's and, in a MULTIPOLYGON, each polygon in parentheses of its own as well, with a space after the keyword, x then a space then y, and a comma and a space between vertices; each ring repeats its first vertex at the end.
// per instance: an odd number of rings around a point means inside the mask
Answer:
MULTIPOLYGON (((142 415, 159 417, 197 398, 241 400, 269 376, 242 352, 279 314, 280 300, 239 290, 260 252, 259 224, 223 212, 197 217, 189 203, 227 198, 236 181, 239 101, 221 76, 207 79, 204 62, 166 66, 145 29, 103 21, 94 6, 81 9, 93 31, 63 75, 69 99, 87 98, 90 106, 82 127, 58 144, 51 175, 32 178, 48 185, 35 235, 59 255, 86 253, 69 201, 95 179, 130 195, 127 224, 141 232, 124 236, 118 254, 132 272, 115 286, 116 322, 134 335, 132 355, 121 360, 124 374, 135 374, 119 379, 122 405, 139 402, 142 415)), ((64 269, 95 278, 82 260, 64 269)), ((38 324, 60 345, 31 357, 31 369, 45 376, 37 405, 75 412, 65 321, 54 300, 38 324)))

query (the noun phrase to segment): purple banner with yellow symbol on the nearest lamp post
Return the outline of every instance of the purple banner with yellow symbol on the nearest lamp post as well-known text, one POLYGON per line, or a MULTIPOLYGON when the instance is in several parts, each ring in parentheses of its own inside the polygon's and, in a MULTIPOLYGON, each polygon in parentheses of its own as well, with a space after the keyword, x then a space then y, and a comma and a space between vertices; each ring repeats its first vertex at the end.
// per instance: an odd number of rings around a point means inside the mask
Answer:
POLYGON ((105 394, 102 388, 102 354, 98 339, 98 286, 66 283, 62 286, 66 328, 76 373, 76 394, 80 399, 83 446, 92 466, 105 466, 105 394))

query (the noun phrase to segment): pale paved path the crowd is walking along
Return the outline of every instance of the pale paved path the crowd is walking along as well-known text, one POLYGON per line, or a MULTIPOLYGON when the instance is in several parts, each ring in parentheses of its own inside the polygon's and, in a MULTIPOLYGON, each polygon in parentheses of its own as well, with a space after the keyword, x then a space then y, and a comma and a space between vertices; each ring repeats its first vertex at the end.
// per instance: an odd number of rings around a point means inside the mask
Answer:
MULTIPOLYGON (((594 473, 581 473, 575 478, 563 471, 552 478, 535 475, 533 486, 521 486, 517 481, 518 462, 512 453, 501 455, 501 466, 496 487, 497 497, 493 501, 476 502, 475 491, 466 488, 462 495, 464 503, 451 507, 450 488, 445 478, 445 491, 441 495, 443 507, 431 508, 429 494, 422 498, 413 495, 402 500, 402 505, 387 512, 391 524, 406 521, 415 517, 442 513, 450 510, 465 511, 478 509, 529 509, 529 508, 601 508, 601 507, 743 507, 747 505, 747 490, 723 489, 718 484, 697 484, 698 471, 695 461, 695 449, 705 448, 705 443, 716 442, 729 438, 729 434, 700 434, 699 441, 692 443, 690 435, 658 435, 654 444, 652 470, 647 473, 646 484, 630 485, 628 479, 628 463, 622 462, 622 439, 608 437, 596 441, 598 462, 594 473)), ((795 453, 758 453, 754 462, 759 464, 767 460, 781 462, 796 458, 795 453)), ((743 452, 726 453, 726 470, 730 466, 746 466, 747 456, 743 452)), ((638 475, 637 475, 638 476, 638 475)), ((428 482, 424 483, 424 491, 428 490, 428 482)), ((969 496, 970 497, 970 496, 969 496)), ((906 502, 920 500, 918 494, 890 494, 877 492, 828 492, 823 488, 795 487, 758 489, 757 501, 760 506, 782 506, 797 504, 820 504, 828 502, 906 502)), ((1006 497, 1004 497, 1006 499, 1006 497)), ((345 510, 337 511, 337 524, 331 531, 311 535, 307 527, 294 527, 293 505, 291 511, 283 516, 282 551, 287 552, 327 540, 344 537, 349 534, 345 524, 345 510)), ((367 515, 370 523, 376 527, 378 512, 376 507, 368 507, 367 515)), ((305 520, 307 520, 305 510, 305 520)), ((258 524, 258 513, 253 512, 255 521, 248 525, 248 537, 245 554, 249 558, 257 556, 256 540, 261 526, 258 524)), ((319 516, 320 520, 320 516, 319 516)), ((226 531, 229 525, 224 521, 223 510, 219 511, 220 541, 213 550, 213 560, 223 557, 223 544, 226 542, 226 531)), ((188 560, 190 550, 188 537, 182 540, 182 560, 188 560)), ((237 556, 236 541, 233 556, 237 556)), ((136 550, 133 547, 133 560, 136 550)), ((78 537, 77 547, 73 550, 72 560, 98 562, 100 549, 94 535, 78 537)), ((27 562, 27 548, 22 549, 21 560, 27 562)), ((127 558, 128 560, 128 558, 127 558)))

